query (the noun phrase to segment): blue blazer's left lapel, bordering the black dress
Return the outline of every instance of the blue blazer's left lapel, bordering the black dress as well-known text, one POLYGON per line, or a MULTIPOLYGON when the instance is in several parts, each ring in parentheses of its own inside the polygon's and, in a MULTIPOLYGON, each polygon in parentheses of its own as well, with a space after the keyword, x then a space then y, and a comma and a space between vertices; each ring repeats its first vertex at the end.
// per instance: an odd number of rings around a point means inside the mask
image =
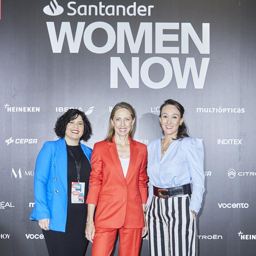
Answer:
POLYGON ((57 171, 59 172, 59 176, 64 186, 64 190, 68 192, 68 155, 64 138, 58 139, 56 141, 55 155, 57 159, 57 171))

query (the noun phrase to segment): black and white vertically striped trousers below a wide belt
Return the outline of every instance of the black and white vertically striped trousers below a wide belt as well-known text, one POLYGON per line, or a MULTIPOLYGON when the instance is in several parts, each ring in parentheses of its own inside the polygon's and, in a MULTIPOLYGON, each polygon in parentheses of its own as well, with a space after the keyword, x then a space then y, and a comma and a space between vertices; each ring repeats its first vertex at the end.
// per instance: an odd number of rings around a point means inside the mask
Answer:
POLYGON ((150 256, 197 256, 197 217, 190 196, 153 196, 146 210, 150 256))

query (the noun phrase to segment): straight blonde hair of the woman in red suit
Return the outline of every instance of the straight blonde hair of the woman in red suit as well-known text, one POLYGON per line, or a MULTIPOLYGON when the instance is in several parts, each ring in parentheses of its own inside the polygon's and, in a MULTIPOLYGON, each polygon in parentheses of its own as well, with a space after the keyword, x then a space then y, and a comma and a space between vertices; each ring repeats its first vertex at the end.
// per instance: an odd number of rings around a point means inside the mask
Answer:
MULTIPOLYGON (((112 142, 112 139, 113 139, 114 134, 115 134, 114 126, 112 125, 111 120, 113 121, 115 113, 120 108, 127 109, 130 112, 130 114, 132 116, 132 119, 135 119, 135 112, 133 110, 133 107, 129 103, 126 103, 126 102, 117 103, 117 105, 115 105, 113 107, 113 109, 111 111, 111 114, 110 114, 110 119, 109 119, 109 124, 108 124, 108 132, 107 132, 107 136, 106 136, 106 140, 108 140, 109 142, 112 142)), ((132 127, 130 129, 129 136, 132 136, 133 131, 134 131, 134 127, 135 127, 135 123, 132 125, 132 127)))

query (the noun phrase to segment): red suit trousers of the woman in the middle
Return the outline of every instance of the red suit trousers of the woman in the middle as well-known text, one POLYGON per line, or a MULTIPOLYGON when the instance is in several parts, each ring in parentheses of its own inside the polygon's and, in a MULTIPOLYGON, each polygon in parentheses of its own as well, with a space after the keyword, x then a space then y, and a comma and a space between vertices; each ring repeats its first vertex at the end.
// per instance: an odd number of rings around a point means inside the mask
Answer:
POLYGON ((117 231, 119 231, 119 256, 138 256, 142 240, 142 228, 139 229, 108 229, 96 228, 91 256, 110 256, 117 231))

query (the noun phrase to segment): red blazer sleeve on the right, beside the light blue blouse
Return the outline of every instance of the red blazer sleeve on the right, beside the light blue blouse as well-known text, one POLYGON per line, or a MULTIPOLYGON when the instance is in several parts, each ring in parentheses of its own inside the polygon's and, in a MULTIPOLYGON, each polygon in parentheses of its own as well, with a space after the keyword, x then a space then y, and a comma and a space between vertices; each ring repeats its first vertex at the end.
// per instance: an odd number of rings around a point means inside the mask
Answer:
POLYGON ((146 174, 147 161, 148 161, 148 151, 145 146, 142 165, 139 170, 139 193, 142 199, 142 203, 146 203, 148 199, 148 186, 146 185, 146 183, 149 180, 149 177, 146 174))

